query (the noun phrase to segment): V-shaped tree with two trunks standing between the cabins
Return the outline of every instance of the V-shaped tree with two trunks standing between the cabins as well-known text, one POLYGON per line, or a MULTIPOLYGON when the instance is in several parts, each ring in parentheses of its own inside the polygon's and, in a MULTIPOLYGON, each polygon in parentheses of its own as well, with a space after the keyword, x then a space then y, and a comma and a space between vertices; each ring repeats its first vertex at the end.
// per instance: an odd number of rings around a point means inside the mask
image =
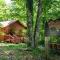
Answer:
POLYGON ((37 47, 38 40, 40 38, 40 19, 42 14, 42 1, 38 0, 38 11, 36 17, 35 30, 33 32, 33 0, 27 0, 27 26, 28 26, 28 37, 31 41, 32 47, 37 47), (33 36, 34 33, 34 36, 33 36))

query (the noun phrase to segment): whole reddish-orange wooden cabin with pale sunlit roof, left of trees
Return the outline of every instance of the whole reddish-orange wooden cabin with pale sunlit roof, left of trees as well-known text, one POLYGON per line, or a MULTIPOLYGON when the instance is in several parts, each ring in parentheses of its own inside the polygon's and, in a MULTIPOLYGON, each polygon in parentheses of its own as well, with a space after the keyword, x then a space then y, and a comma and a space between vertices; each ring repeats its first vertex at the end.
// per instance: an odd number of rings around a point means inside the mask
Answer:
POLYGON ((0 41, 10 43, 24 42, 26 36, 26 24, 19 20, 0 22, 0 41))

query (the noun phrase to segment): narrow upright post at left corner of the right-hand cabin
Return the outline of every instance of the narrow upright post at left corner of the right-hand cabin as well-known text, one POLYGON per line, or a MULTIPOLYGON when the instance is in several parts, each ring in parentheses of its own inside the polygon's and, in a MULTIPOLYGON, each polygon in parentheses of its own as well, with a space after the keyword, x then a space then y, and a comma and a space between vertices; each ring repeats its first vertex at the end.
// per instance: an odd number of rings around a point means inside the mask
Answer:
POLYGON ((49 40, 50 40, 50 30, 48 22, 45 23, 45 57, 46 60, 49 60, 49 40))

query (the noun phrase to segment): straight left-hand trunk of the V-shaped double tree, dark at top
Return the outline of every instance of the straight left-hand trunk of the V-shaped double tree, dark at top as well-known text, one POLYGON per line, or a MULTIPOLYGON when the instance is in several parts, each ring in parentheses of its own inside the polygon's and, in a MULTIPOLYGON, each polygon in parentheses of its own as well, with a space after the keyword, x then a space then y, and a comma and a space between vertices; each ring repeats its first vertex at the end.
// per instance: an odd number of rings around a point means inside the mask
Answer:
POLYGON ((27 7, 27 35, 29 39, 29 44, 31 47, 34 47, 34 41, 33 41, 33 0, 27 0, 26 1, 26 7, 27 7))

